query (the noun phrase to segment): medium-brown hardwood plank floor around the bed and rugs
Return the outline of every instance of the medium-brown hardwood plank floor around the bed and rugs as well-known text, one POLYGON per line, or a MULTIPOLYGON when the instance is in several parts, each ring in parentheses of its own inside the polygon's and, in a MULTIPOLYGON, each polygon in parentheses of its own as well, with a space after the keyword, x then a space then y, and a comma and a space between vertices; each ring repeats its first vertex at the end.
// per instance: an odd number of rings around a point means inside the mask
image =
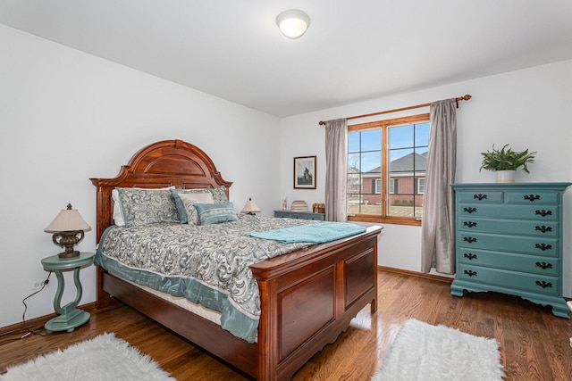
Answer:
MULTIPOLYGON (((349 329, 309 360, 293 380, 369 380, 410 318, 496 338, 506 380, 572 380, 572 322, 553 316, 550 307, 493 293, 458 298, 450 295, 449 283, 413 275, 380 271, 378 279, 378 311, 373 316, 369 307, 361 311, 349 329)), ((20 339, 23 330, 0 335, 0 373, 40 353, 114 332, 178 380, 247 379, 121 302, 88 311, 92 314, 88 324, 72 333, 46 335, 38 329, 42 335, 24 339, 20 339)))

